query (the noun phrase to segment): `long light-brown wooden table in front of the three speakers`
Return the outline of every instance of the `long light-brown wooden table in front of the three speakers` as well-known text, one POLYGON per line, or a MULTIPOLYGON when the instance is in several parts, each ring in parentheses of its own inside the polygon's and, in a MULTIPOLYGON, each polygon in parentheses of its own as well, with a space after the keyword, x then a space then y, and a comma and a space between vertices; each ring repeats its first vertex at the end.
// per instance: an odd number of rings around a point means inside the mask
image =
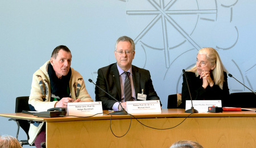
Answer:
MULTIPOLYGON (((108 111, 104 111, 109 113, 108 111)), ((170 147, 179 140, 192 140, 205 148, 256 147, 256 113, 254 111, 223 113, 184 113, 184 109, 162 109, 158 114, 94 117, 36 117, 24 113, 2 113, 0 116, 46 122, 47 147, 170 147), (189 116, 180 124, 185 117, 189 116), (178 125, 180 124, 180 125, 178 125), (178 125, 178 126, 176 126, 178 125), (176 126, 175 128, 172 128, 176 126), (171 129, 166 129, 171 128, 171 129), (166 130, 159 130, 166 129, 166 130)), ((6 125, 7 126, 7 125, 6 125)))

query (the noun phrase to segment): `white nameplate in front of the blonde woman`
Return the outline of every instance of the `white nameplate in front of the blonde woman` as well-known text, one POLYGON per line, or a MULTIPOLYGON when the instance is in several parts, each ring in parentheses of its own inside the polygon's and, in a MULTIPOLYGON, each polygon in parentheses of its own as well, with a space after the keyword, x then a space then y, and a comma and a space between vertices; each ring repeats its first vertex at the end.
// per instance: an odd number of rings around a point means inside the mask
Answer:
MULTIPOLYGON (((193 100, 193 107, 198 112, 208 112, 208 107, 222 107, 221 100, 193 100)), ((191 100, 186 100, 185 110, 191 109, 191 100)))

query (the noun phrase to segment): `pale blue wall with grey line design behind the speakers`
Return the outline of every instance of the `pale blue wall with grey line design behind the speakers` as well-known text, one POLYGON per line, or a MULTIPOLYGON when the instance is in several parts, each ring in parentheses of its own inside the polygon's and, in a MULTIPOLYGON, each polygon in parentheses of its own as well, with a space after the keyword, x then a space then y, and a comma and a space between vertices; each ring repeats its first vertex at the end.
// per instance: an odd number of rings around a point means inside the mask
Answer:
MULTIPOLYGON (((252 0, 0 1, 0 113, 14 112, 16 96, 30 94, 32 74, 58 45, 71 49, 72 67, 95 100, 87 80, 96 82, 97 70, 115 62, 123 35, 134 39, 133 64, 150 70, 163 108, 168 95, 181 93, 182 69, 207 46, 255 91, 255 7, 252 0)), ((233 78, 228 83, 230 92, 249 91, 233 78)), ((0 134, 15 136, 15 123, 0 121, 0 134)))

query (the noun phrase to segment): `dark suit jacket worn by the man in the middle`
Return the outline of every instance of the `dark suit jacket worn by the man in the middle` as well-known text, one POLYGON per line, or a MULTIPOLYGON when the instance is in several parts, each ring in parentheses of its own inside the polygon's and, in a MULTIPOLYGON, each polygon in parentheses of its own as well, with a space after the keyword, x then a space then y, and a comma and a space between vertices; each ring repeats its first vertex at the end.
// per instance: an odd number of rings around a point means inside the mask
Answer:
MULTIPOLYGON (((160 100, 154 90, 150 72, 134 65, 132 65, 131 69, 133 71, 133 83, 136 98, 137 94, 141 93, 143 89, 144 94, 147 95, 146 100, 160 100)), ((112 95, 113 98, 121 102, 121 84, 116 63, 98 69, 96 84, 112 95)), ((104 110, 112 109, 112 106, 116 101, 104 91, 100 90, 100 88, 95 87, 96 102, 102 102, 102 108, 104 110)))

